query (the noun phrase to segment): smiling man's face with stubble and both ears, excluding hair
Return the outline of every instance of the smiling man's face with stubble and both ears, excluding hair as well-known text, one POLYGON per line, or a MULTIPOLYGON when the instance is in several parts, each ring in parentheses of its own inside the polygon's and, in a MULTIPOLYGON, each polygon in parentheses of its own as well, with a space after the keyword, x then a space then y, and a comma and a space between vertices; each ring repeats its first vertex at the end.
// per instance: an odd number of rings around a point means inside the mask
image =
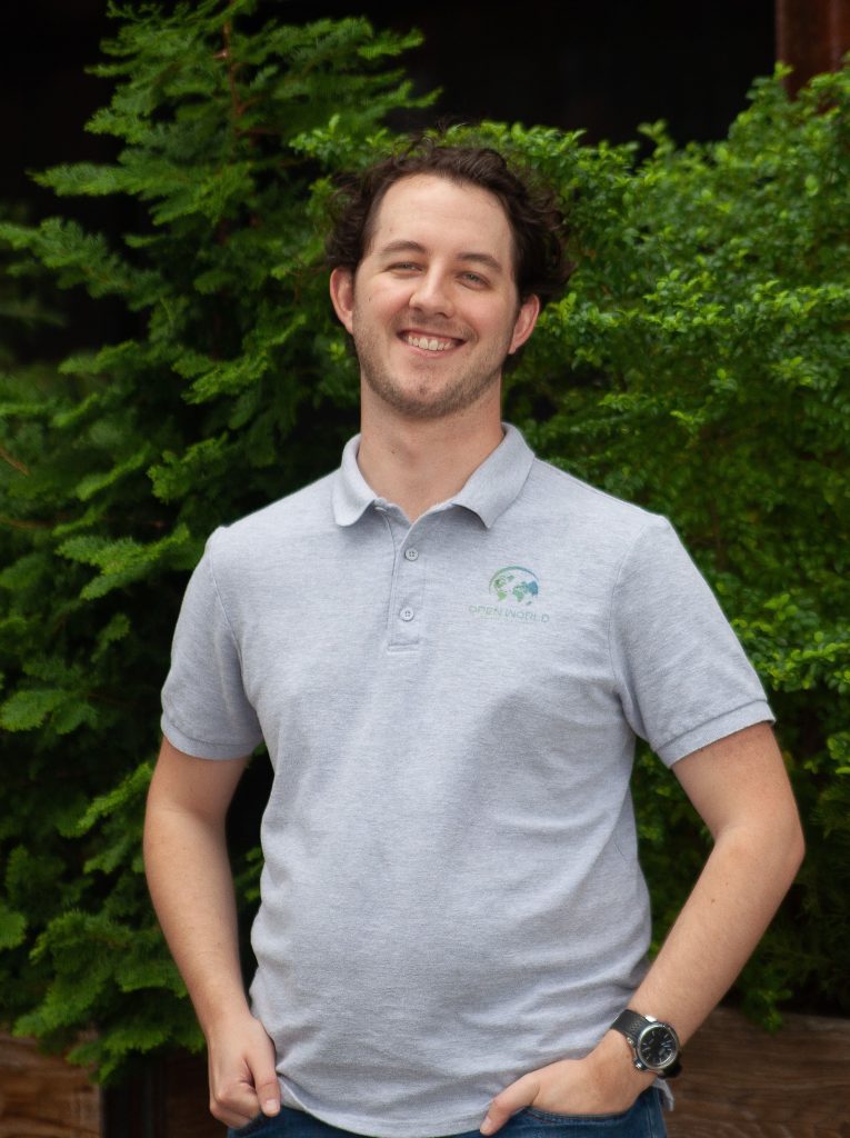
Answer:
POLYGON ((505 212, 486 190, 431 174, 390 185, 354 277, 331 275, 364 402, 437 419, 497 399, 505 356, 539 311, 536 297, 519 303, 512 248, 505 212))

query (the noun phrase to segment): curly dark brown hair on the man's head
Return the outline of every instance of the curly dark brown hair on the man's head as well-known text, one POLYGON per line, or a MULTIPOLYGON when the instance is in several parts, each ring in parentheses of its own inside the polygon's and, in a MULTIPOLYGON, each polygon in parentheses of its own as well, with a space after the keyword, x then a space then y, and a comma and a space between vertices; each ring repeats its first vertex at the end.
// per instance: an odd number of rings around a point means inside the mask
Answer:
POLYGON ((403 178, 434 174, 468 183, 498 198, 513 233, 514 275, 520 300, 537 296, 544 305, 569 279, 566 224, 554 192, 518 171, 489 147, 441 146, 419 138, 356 174, 343 175, 331 199, 332 230, 325 245, 331 269, 354 272, 369 250, 378 208, 403 178))

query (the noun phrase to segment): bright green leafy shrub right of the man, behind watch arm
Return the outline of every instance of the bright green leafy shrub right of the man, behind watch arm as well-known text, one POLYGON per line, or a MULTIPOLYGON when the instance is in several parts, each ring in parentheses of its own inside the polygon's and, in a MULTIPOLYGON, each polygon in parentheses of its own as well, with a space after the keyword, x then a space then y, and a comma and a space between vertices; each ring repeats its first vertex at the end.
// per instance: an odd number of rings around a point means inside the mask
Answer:
MULTIPOLYGON (((738 995, 768 1024, 787 999, 847 1014, 850 69, 797 100, 779 76, 758 82, 719 143, 677 151, 653 127, 636 164, 535 133, 518 138, 573 203, 578 269, 514 381, 514 418, 554 462, 667 513, 733 618, 809 847, 738 995)), ((704 846, 645 757, 636 793, 661 931, 704 846)))

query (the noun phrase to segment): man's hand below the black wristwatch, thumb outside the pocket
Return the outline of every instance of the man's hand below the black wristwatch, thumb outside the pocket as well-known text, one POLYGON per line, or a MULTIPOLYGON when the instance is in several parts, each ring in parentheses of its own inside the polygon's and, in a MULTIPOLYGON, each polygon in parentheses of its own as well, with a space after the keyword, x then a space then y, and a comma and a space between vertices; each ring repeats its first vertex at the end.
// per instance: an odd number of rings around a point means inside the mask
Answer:
POLYGON ((490 1103, 481 1123, 493 1135, 526 1106, 553 1114, 620 1114, 651 1087, 654 1074, 633 1066, 625 1040, 609 1032, 583 1059, 562 1059, 522 1075, 490 1103))

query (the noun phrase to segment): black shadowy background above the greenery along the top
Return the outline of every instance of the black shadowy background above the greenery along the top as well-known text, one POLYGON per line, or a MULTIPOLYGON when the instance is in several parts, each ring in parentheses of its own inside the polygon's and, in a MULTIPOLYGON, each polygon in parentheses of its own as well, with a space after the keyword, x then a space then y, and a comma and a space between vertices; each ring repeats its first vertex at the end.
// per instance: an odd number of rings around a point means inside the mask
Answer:
MULTIPOLYGON (((13 0, 3 11, 0 200, 56 212, 25 171, 107 160, 114 143, 83 125, 108 99, 84 73, 109 34, 107 0, 13 0)), ((434 118, 495 118, 585 129, 621 142, 665 118, 677 142, 726 133, 757 75, 774 60, 773 0, 526 0, 510 5, 266 0, 262 15, 292 23, 368 15, 419 27, 407 57, 416 90, 443 88, 434 118)), ((63 212, 71 203, 65 203, 63 212)), ((89 218, 86 218, 89 220, 89 218)))

